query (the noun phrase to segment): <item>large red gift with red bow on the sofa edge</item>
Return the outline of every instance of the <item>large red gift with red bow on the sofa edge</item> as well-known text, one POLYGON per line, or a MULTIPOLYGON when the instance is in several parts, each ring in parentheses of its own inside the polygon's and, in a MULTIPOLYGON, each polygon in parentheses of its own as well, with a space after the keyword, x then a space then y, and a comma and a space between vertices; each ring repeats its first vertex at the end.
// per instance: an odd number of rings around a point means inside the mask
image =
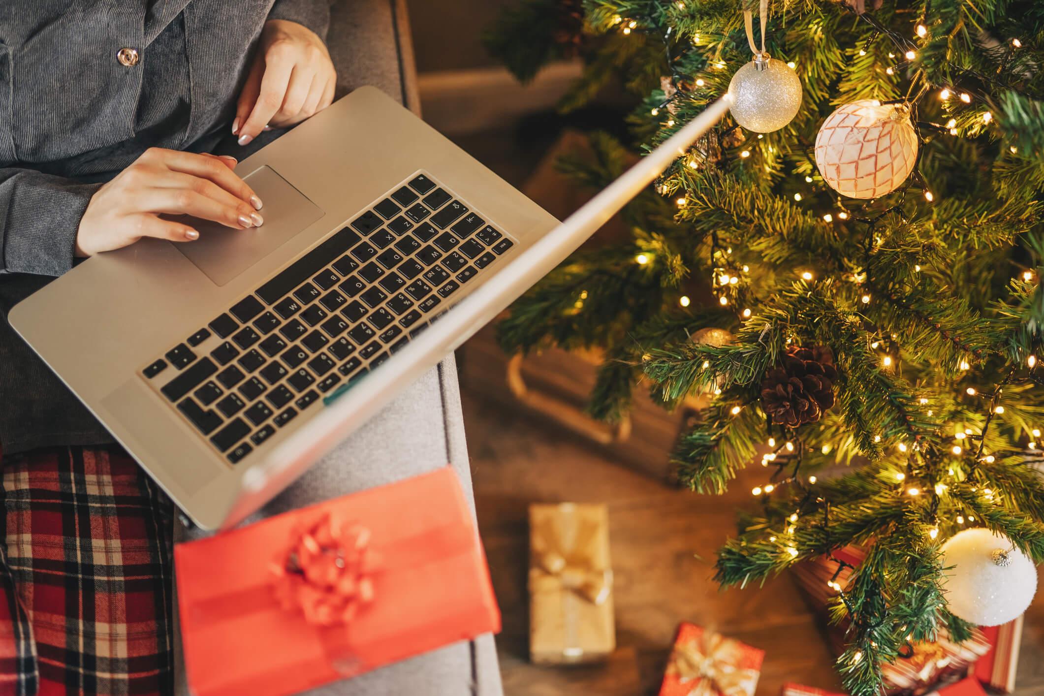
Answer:
POLYGON ((453 470, 174 550, 195 696, 283 696, 500 629, 453 470))

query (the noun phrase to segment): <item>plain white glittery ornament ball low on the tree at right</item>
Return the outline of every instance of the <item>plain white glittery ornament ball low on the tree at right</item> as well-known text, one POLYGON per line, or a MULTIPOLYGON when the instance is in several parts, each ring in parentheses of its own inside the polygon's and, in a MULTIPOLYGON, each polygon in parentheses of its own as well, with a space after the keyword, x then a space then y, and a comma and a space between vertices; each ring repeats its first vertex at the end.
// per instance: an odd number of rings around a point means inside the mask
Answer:
POLYGON ((1037 593, 1037 568, 1006 536, 966 529, 943 545, 943 591, 950 613, 979 626, 1022 615, 1037 593))

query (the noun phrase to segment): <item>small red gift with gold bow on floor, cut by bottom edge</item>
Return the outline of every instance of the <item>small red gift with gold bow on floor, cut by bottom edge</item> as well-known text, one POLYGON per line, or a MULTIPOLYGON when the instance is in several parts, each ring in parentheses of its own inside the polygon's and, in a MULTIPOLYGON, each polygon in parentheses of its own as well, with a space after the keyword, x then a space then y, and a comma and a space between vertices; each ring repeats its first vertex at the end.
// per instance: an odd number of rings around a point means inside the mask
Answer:
POLYGON ((660 696, 754 696, 764 658, 764 650, 683 622, 660 696))

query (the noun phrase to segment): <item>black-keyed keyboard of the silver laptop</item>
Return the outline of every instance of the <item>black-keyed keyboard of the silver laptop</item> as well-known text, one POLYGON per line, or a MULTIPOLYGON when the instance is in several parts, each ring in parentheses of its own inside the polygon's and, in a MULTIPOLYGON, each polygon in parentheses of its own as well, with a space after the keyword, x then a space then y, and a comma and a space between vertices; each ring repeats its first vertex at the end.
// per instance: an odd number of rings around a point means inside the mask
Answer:
POLYGON ((238 463, 401 349, 514 245, 422 173, 141 376, 238 463))

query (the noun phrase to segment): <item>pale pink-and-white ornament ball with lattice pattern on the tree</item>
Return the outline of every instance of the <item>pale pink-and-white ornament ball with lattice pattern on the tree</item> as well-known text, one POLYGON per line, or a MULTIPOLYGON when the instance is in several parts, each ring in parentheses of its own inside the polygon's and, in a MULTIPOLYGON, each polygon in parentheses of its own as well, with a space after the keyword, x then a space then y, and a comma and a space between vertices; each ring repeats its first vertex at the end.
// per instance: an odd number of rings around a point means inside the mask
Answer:
POLYGON ((877 198, 906 181, 917 164, 917 131, 901 104, 860 99, 838 106, 815 137, 815 166, 837 193, 877 198))

